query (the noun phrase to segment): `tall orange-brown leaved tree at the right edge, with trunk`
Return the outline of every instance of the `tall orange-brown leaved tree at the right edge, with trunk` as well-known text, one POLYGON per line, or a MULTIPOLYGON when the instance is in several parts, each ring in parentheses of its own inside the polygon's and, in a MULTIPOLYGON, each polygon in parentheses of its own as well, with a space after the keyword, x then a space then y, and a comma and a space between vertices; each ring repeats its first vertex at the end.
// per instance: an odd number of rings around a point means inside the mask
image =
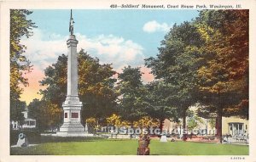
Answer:
POLYGON ((198 70, 202 110, 216 114, 221 142, 223 116, 248 118, 248 11, 201 11, 196 21, 206 42, 198 70))

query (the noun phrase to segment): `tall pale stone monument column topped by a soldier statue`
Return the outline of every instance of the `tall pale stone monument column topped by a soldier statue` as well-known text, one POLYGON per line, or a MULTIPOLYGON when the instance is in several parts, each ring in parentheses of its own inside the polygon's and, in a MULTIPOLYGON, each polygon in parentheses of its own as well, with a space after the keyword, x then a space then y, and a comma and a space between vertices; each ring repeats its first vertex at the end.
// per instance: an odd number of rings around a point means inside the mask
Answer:
POLYGON ((84 126, 81 125, 81 108, 82 103, 79 101, 78 95, 78 59, 76 36, 73 35, 73 15, 71 10, 69 32, 70 36, 67 40, 67 98, 63 107, 63 125, 57 136, 85 136, 84 126))

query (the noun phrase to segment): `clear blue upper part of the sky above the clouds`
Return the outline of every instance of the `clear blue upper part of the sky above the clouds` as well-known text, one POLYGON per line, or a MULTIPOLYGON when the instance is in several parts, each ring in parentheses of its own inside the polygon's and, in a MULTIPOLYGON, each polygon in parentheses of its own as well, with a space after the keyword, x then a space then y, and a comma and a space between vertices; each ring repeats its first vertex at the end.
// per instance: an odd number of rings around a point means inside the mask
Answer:
MULTIPOLYGON (((68 36, 70 10, 32 10, 28 18, 44 31, 42 39, 52 39, 50 34, 68 36)), ((185 20, 192 20, 198 15, 197 10, 115 10, 115 9, 73 9, 75 21, 74 32, 88 37, 99 35, 121 36, 143 47, 143 54, 154 56, 164 39, 166 31, 145 32, 143 25, 149 21, 157 21, 172 26, 185 20)))

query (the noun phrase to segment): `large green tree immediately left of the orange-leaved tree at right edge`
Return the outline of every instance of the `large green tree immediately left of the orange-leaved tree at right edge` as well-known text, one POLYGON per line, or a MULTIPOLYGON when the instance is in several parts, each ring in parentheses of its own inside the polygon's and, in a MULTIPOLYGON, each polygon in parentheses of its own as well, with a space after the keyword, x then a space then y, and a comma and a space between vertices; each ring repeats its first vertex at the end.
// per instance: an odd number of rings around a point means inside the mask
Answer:
MULTIPOLYGON (((203 44, 200 33, 193 23, 173 25, 161 42, 156 58, 145 59, 156 79, 165 82, 168 88, 166 100, 170 107, 177 108, 177 115, 183 118, 186 129, 186 116, 189 106, 197 102, 196 71, 200 67, 200 51, 203 44)), ((185 140, 183 136, 183 140, 185 140)))

